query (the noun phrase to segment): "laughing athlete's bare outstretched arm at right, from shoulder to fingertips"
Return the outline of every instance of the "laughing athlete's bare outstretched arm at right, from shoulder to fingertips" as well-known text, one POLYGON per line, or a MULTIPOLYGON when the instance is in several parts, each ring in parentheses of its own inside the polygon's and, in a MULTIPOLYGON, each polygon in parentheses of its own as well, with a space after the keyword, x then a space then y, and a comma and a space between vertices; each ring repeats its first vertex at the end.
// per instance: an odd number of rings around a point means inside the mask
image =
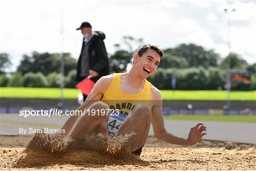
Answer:
MULTIPOLYGON (((156 89, 156 88, 155 88, 156 89)), ((163 140, 170 144, 178 144, 178 145, 192 145, 196 144, 201 140, 201 137, 205 135, 205 133, 201 134, 202 131, 206 131, 205 126, 201 126, 202 124, 197 124, 195 127, 191 128, 189 136, 187 139, 177 137, 168 133, 165 129, 164 118, 162 115, 162 93, 159 90, 154 90, 152 92, 152 102, 154 103, 152 107, 152 120, 151 123, 153 125, 153 130, 155 133, 155 137, 159 140, 163 140)))

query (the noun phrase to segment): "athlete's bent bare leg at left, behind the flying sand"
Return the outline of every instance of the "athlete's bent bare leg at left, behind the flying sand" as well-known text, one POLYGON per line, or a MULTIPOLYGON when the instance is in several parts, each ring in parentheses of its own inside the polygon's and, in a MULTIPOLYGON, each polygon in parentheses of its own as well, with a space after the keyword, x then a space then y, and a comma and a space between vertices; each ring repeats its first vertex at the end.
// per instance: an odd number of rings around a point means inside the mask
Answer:
POLYGON ((81 140, 84 138, 87 134, 92 133, 101 133, 103 135, 108 135, 108 128, 107 128, 107 122, 109 120, 109 113, 108 113, 108 105, 105 103, 99 101, 93 103, 89 108, 90 113, 88 110, 86 110, 84 116, 79 116, 75 122, 70 122, 73 125, 65 124, 64 127, 68 127, 70 130, 68 134, 66 135, 66 138, 73 138, 75 140, 81 140), (95 115, 92 116, 91 109, 94 109, 95 115), (101 111, 103 111, 101 113, 101 111), (99 111, 99 112, 98 112, 99 111), (99 114, 99 115, 98 115, 99 114), (102 115, 101 115, 102 114, 102 115))

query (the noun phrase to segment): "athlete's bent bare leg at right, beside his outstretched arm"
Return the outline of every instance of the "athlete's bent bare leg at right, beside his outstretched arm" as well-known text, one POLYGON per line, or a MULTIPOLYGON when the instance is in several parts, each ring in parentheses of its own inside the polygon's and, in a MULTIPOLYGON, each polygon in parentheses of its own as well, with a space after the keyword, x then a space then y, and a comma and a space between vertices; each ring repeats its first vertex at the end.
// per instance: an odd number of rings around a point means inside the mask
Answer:
POLYGON ((131 151, 135 151, 145 144, 150 128, 151 113, 151 109, 146 104, 140 103, 120 126, 118 135, 136 133, 128 140, 131 151))

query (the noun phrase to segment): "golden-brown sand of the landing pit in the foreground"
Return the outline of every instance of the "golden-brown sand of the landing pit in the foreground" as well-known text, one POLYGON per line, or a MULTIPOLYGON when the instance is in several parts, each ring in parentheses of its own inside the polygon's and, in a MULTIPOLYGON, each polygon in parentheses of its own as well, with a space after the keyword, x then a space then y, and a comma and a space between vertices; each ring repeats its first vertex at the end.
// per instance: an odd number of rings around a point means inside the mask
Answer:
POLYGON ((253 144, 202 140, 181 148, 148 137, 141 160, 90 149, 26 149, 32 136, 0 136, 0 170, 256 170, 253 144))

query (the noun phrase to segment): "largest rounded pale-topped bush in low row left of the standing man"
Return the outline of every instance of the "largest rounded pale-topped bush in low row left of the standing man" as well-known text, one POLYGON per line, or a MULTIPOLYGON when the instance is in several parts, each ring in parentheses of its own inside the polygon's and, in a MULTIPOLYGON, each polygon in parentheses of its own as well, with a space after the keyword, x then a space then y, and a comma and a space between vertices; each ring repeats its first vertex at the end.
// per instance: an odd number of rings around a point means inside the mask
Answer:
POLYGON ((28 72, 24 75, 24 87, 47 87, 48 82, 46 77, 41 73, 28 72))

